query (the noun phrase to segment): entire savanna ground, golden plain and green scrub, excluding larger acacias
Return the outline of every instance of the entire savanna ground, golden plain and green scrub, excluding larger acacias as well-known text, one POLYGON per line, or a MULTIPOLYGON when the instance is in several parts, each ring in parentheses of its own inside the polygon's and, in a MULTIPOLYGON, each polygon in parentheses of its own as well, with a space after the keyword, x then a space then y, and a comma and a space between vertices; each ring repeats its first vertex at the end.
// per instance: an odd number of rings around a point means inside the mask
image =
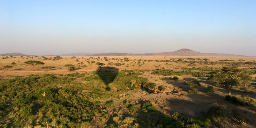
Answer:
POLYGON ((1 57, 0 127, 256 127, 256 57, 54 57, 1 57), (252 79, 228 99, 207 78, 233 66, 252 79))

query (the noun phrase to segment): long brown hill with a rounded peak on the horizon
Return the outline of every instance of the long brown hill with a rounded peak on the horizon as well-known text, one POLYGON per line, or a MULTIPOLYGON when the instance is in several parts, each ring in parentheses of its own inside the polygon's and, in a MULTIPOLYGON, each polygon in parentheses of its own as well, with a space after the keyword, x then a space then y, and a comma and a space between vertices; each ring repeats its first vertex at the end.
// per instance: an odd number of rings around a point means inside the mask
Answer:
POLYGON ((101 53, 94 54, 92 56, 243 56, 233 54, 219 54, 219 53, 200 53, 190 49, 179 49, 171 52, 159 52, 159 53, 146 53, 146 54, 129 54, 129 53, 101 53))

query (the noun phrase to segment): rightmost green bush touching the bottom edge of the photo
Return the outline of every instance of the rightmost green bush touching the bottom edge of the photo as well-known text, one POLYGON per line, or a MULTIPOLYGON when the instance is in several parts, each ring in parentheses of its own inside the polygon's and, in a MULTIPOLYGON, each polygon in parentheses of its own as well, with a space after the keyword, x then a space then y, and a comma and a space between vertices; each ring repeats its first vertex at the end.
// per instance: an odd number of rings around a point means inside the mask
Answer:
POLYGON ((187 120, 187 124, 189 126, 191 125, 193 126, 195 124, 195 126, 200 126, 200 127, 208 127, 210 122, 211 122, 210 119, 203 118, 203 117, 193 117, 187 120))

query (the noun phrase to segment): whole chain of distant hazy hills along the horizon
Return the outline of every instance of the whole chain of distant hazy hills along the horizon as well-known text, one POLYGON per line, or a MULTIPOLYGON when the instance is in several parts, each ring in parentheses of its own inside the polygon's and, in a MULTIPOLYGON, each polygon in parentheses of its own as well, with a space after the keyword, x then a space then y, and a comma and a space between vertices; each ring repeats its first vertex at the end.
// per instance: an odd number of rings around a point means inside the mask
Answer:
MULTIPOLYGON (((0 54, 1 56, 28 56, 22 53, 6 53, 0 54)), ((46 56, 46 55, 45 55, 46 56)), ((47 55, 55 56, 55 55, 47 55)), ((193 51, 190 49, 179 49, 177 51, 171 52, 159 52, 159 53, 145 53, 145 54, 131 54, 131 53, 119 53, 119 52, 110 52, 110 53, 70 53, 63 54, 61 56, 243 56, 243 55, 234 55, 234 54, 220 54, 220 53, 201 53, 193 51)))

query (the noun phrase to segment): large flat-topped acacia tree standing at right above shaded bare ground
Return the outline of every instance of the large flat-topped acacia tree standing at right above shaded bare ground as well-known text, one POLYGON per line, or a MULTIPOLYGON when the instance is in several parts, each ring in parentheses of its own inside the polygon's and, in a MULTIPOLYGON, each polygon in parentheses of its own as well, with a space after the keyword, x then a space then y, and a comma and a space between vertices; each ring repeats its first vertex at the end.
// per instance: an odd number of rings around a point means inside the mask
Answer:
POLYGON ((235 67, 224 67, 218 71, 211 72, 208 80, 223 85, 231 96, 232 86, 236 86, 242 79, 248 77, 249 72, 246 69, 237 69, 235 67))

